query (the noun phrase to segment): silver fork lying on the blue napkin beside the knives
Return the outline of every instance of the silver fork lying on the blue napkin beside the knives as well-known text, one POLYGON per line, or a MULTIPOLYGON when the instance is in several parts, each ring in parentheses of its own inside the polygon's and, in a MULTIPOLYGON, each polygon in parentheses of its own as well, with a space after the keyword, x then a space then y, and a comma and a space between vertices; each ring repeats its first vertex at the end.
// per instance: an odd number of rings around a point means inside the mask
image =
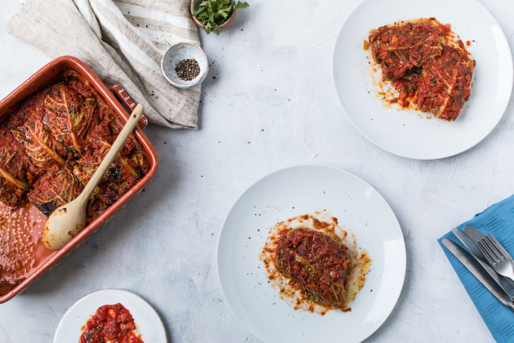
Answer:
POLYGON ((475 243, 495 272, 514 280, 514 260, 492 233, 475 243))

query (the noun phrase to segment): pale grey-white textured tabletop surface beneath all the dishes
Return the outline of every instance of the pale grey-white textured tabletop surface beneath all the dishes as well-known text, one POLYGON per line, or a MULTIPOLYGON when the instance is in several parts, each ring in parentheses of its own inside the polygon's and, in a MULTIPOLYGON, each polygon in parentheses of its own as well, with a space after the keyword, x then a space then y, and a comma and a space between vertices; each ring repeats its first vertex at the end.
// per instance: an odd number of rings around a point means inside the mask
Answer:
MULTIPOLYGON (((512 49, 514 3, 481 2, 512 49)), ((310 163, 370 183, 406 239, 405 286, 367 341, 493 341, 436 239, 514 192, 514 101, 489 136, 456 156, 411 160, 376 147, 347 120, 332 85, 335 38, 357 3, 252 0, 222 35, 201 33, 213 65, 202 87, 200 130, 145 130, 160 157, 154 180, 66 260, 0 304, 0 342, 51 341, 68 307, 102 288, 152 303, 173 342, 256 341, 221 294, 218 232, 256 179, 310 163)), ((5 33, 18 5, 1 6, 3 98, 50 59, 5 33)))

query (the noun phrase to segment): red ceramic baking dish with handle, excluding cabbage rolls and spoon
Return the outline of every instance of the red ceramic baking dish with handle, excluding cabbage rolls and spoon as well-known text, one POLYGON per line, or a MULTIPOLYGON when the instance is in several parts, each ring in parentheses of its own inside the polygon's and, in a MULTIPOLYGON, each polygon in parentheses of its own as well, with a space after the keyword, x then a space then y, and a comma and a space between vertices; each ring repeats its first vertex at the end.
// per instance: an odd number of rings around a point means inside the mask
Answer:
MULTIPOLYGON (((33 93, 38 92, 53 83, 61 81, 63 79, 64 71, 68 69, 75 70, 78 75, 77 78, 88 84, 89 87, 93 89, 94 93, 96 93, 96 96, 101 98, 109 107, 111 107, 120 123, 126 122, 128 113, 120 102, 118 102, 116 96, 118 96, 120 101, 122 101, 129 109, 132 109, 135 104, 130 100, 130 97, 128 97, 119 86, 113 86, 111 87, 111 91, 109 91, 109 89, 102 83, 102 81, 100 81, 91 69, 77 58, 71 56, 63 56, 51 61, 32 75, 27 81, 14 89, 11 94, 0 101, 0 121, 13 113, 17 107, 33 93)), ((27 246, 23 248, 6 247, 0 244, 0 262, 2 262, 2 260, 5 262, 6 259, 9 258, 9 254, 12 255, 13 251, 18 249, 14 252, 21 256, 19 258, 26 264, 23 271, 23 273, 25 273, 24 278, 22 278, 22 281, 14 286, 14 288, 7 291, 7 293, 2 294, 2 292, 0 292, 0 303, 5 302, 20 293, 43 273, 63 260, 72 250, 77 248, 89 236, 91 236, 91 234, 112 219, 113 215, 121 210, 128 201, 134 198, 134 196, 142 190, 142 187, 153 178, 157 171, 158 158, 150 141, 143 134, 142 128, 144 128, 145 124, 145 119, 141 120, 138 127, 134 130, 133 135, 136 138, 136 142, 138 143, 140 150, 148 158, 150 163, 149 172, 143 175, 136 185, 121 196, 118 201, 105 210, 105 212, 98 216, 98 218, 87 225, 83 231, 81 231, 60 250, 51 251, 44 246, 41 238, 46 216, 44 216, 34 206, 30 205, 30 203, 15 210, 6 210, 5 207, 3 210, 0 210, 0 225, 4 225, 2 223, 7 223, 8 221, 11 223, 17 223, 16 230, 19 231, 12 231, 12 233, 7 232, 7 234, 17 234, 17 240, 20 243, 16 244, 23 245, 28 242, 26 244, 27 246)), ((3 234, 2 229, 3 228, 0 227, 0 235, 3 234)), ((2 264, 0 264, 0 276, 2 275, 1 272, 2 264)), ((0 289, 0 291, 2 290, 0 289)))

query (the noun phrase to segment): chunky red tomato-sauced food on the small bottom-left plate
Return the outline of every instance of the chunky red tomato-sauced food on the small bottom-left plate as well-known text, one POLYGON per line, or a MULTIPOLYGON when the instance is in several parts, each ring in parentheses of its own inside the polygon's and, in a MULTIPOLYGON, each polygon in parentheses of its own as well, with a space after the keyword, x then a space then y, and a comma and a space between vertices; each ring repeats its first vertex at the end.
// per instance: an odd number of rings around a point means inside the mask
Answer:
POLYGON ((103 305, 84 327, 79 343, 143 343, 131 313, 120 303, 103 305))

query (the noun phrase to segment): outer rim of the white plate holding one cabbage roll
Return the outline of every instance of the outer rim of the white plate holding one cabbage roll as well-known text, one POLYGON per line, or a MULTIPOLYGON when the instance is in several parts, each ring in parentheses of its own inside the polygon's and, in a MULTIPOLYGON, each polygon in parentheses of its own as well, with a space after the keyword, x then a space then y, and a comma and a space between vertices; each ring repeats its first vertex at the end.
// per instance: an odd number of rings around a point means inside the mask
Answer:
POLYGON ((250 334, 254 335, 255 337, 259 338, 258 336, 255 335, 255 333, 247 326, 247 323, 243 322, 242 319, 240 318, 240 316, 238 314, 236 314, 236 312, 233 310, 233 307, 232 305, 229 303, 229 301, 227 300, 228 297, 227 297, 227 294, 225 293, 225 290, 222 286, 222 279, 221 279, 221 276, 219 275, 219 270, 221 270, 220 268, 220 260, 219 260, 219 255, 220 255, 220 250, 219 250, 219 246, 221 244, 221 239, 222 239, 222 233, 224 231, 224 228, 225 228, 225 223, 227 222, 227 219, 229 218, 231 212, 233 211, 233 208, 234 206, 240 201, 240 199, 252 188, 254 187, 256 184, 262 182, 262 180, 268 178, 268 177, 271 177, 272 175, 274 174, 278 174, 278 173, 281 173, 281 172, 284 172, 286 170, 290 170, 290 169, 297 169, 297 168, 326 168, 326 169, 333 169, 333 170, 336 170, 338 172, 343 172, 343 173, 346 173, 350 176, 353 176, 357 179, 359 179, 362 183, 368 185, 369 187, 371 187, 380 197, 380 199, 388 206, 389 210, 392 212, 393 216, 394 216, 394 219, 395 219, 395 223, 397 225, 397 228, 399 230, 399 236, 401 236, 401 242, 402 242, 402 247, 403 249, 401 249, 401 261, 398 261, 398 262, 401 262, 401 287, 398 287, 398 290, 397 290, 397 294, 395 293, 391 298, 394 298, 394 303, 392 304, 391 306, 391 309, 389 309, 387 311, 387 315, 384 315, 382 320, 378 323, 378 325, 365 337, 362 338, 362 340, 370 337, 372 334, 374 334, 381 326, 382 324, 389 318, 389 316, 391 315, 391 313, 393 312, 396 304, 398 303, 398 299, 400 298, 400 295, 401 295, 401 291, 403 290, 403 286, 405 284, 405 276, 406 276, 406 272, 407 272, 407 249, 406 249, 406 246, 405 246, 405 237, 403 237, 403 231, 401 231, 401 226, 400 226, 400 223, 398 222, 398 218, 396 217, 396 214, 394 213, 393 209, 391 208, 391 206, 389 205, 389 203, 386 201, 386 199, 382 196, 382 194, 380 194, 380 192, 378 192, 375 187, 373 187, 372 185, 370 185, 368 182, 366 182, 364 179, 362 179, 361 177, 347 171, 347 170, 344 170, 344 169, 341 169, 341 168, 337 168, 337 167, 333 167, 333 166, 329 166, 329 165, 306 165, 306 164, 303 164, 303 165, 293 165, 293 166, 289 166, 289 167, 284 167, 284 168, 281 168, 281 169, 278 169, 278 170, 274 170, 268 174, 265 174, 264 176, 261 176, 260 178, 258 178, 257 180, 255 180, 253 183, 251 183, 248 187, 245 188, 245 190, 239 195, 237 196, 237 198, 235 199, 235 201, 232 203, 232 205, 230 206, 230 209, 228 210, 227 214, 225 215, 225 218, 223 220, 223 223, 222 223, 222 226, 221 226, 221 229, 219 231, 219 236, 218 236, 218 240, 217 240, 217 244, 216 244, 216 275, 218 277, 218 283, 219 283, 219 288, 221 289, 222 291, 222 295, 223 295, 223 298, 225 299, 225 301, 227 302, 227 305, 230 309, 230 311, 232 312, 232 314, 234 315, 234 317, 237 319, 237 321, 239 321, 241 323, 241 325, 245 328, 245 330, 247 330, 250 334))

